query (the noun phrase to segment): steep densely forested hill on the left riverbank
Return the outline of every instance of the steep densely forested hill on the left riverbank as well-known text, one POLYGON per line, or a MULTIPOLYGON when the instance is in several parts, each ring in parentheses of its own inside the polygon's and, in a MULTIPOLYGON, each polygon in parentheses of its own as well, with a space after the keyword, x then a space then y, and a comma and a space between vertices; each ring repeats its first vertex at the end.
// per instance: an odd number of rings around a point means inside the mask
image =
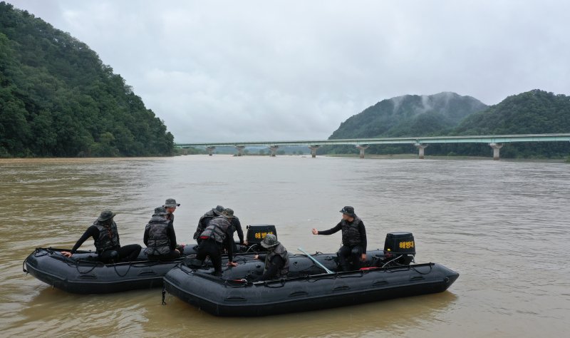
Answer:
POLYGON ((0 2, 0 157, 171 155, 174 138, 95 51, 0 2))

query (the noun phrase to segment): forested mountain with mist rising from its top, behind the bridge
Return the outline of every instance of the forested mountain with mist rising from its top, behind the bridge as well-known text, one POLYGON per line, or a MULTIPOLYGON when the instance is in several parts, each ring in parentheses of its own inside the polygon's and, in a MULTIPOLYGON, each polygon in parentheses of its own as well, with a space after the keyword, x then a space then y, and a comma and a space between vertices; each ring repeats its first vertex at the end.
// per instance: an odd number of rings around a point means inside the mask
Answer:
MULTIPOLYGON (((380 101, 341 123, 329 139, 427 136, 448 133, 466 116, 487 106, 471 96, 438 93, 380 101)), ((410 145, 373 145, 367 153, 409 153, 410 145)), ((353 146, 323 147, 320 153, 355 153, 353 146)))

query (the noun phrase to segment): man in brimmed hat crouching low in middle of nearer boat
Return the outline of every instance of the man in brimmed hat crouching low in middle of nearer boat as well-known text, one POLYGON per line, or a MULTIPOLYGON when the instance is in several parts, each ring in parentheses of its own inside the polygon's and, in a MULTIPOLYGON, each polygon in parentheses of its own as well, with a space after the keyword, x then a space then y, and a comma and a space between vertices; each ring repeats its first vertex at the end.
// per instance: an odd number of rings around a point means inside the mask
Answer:
POLYGON ((255 255, 256 260, 265 260, 263 275, 257 277, 254 282, 262 280, 275 280, 287 277, 289 272, 289 254, 285 247, 273 234, 267 234, 261 241, 261 246, 267 249, 267 255, 255 255))

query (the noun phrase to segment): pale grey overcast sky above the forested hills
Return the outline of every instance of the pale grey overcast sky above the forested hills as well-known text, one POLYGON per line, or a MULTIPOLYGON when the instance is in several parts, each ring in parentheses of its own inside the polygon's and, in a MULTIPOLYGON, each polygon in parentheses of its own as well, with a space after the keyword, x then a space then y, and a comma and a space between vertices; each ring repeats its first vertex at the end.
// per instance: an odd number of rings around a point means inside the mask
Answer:
POLYGON ((324 139, 405 94, 570 94, 565 0, 8 2, 87 43, 177 143, 324 139))

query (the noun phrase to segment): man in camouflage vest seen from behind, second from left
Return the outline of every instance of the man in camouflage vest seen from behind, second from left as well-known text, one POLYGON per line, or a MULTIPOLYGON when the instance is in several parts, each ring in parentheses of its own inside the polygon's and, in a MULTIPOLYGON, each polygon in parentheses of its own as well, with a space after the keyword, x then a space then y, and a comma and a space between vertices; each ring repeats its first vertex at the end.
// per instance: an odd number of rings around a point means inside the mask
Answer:
POLYGON ((150 260, 173 260, 180 257, 176 250, 176 233, 165 207, 155 208, 155 213, 145 227, 143 242, 145 254, 150 260))

